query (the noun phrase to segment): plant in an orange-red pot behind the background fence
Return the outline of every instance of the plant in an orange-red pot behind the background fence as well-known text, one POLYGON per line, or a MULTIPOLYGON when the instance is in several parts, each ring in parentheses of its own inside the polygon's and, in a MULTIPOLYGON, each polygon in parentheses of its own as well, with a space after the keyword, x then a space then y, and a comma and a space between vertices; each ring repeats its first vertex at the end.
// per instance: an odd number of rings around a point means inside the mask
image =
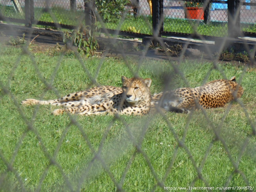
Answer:
POLYGON ((204 19, 204 4, 196 1, 185 1, 185 17, 187 19, 204 19))

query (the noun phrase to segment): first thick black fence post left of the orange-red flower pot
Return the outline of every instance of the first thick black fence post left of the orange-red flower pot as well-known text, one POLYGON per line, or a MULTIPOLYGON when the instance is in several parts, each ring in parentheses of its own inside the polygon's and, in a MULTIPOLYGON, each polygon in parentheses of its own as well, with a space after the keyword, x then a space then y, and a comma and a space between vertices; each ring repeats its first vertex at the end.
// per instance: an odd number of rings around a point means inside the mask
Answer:
POLYGON ((152 26, 153 36, 158 37, 163 32, 163 0, 152 1, 152 26))

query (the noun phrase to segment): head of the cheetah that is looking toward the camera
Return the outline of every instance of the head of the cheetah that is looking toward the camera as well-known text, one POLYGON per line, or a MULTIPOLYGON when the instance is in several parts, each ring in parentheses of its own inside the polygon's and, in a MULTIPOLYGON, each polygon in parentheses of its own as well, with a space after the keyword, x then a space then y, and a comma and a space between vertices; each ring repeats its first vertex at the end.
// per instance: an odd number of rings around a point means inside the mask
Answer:
POLYGON ((151 79, 122 77, 124 99, 131 105, 136 105, 143 100, 151 101, 151 79))

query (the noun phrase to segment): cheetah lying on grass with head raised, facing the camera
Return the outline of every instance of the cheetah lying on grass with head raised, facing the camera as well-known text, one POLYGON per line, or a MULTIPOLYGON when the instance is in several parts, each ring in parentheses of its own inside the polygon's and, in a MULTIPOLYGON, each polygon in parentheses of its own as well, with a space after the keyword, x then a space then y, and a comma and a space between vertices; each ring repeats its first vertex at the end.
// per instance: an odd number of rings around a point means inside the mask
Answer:
POLYGON ((122 78, 123 87, 100 86, 86 91, 68 94, 60 99, 39 101, 26 99, 22 105, 57 105, 64 109, 56 109, 54 115, 64 112, 71 114, 129 114, 142 116, 150 111, 151 79, 122 78))

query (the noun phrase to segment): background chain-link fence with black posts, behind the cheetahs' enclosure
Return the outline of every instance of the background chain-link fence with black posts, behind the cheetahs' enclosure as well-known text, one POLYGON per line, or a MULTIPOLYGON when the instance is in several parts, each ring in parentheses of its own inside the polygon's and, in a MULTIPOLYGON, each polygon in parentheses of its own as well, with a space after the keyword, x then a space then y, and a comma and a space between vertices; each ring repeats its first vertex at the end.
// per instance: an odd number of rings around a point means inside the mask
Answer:
POLYGON ((64 28, 74 28, 81 19, 86 25, 93 22, 99 29, 107 29, 109 33, 115 33, 114 31, 117 30, 122 31, 124 35, 134 37, 152 35, 153 31, 165 36, 188 37, 190 34, 195 34, 195 31, 206 37, 255 36, 256 2, 254 0, 204 1, 201 3, 204 14, 196 20, 187 19, 184 4, 186 1, 152 1, 152 15, 147 0, 114 2, 116 3, 112 3, 111 6, 109 3, 108 8, 104 10, 101 1, 87 3, 82 0, 3 0, 0 16, 1 20, 25 23, 27 26, 37 24, 64 28), (83 18, 80 17, 82 12, 86 13, 83 18), (101 25, 100 20, 104 21, 104 26, 101 25), (118 25, 120 21, 121 26, 118 25))

